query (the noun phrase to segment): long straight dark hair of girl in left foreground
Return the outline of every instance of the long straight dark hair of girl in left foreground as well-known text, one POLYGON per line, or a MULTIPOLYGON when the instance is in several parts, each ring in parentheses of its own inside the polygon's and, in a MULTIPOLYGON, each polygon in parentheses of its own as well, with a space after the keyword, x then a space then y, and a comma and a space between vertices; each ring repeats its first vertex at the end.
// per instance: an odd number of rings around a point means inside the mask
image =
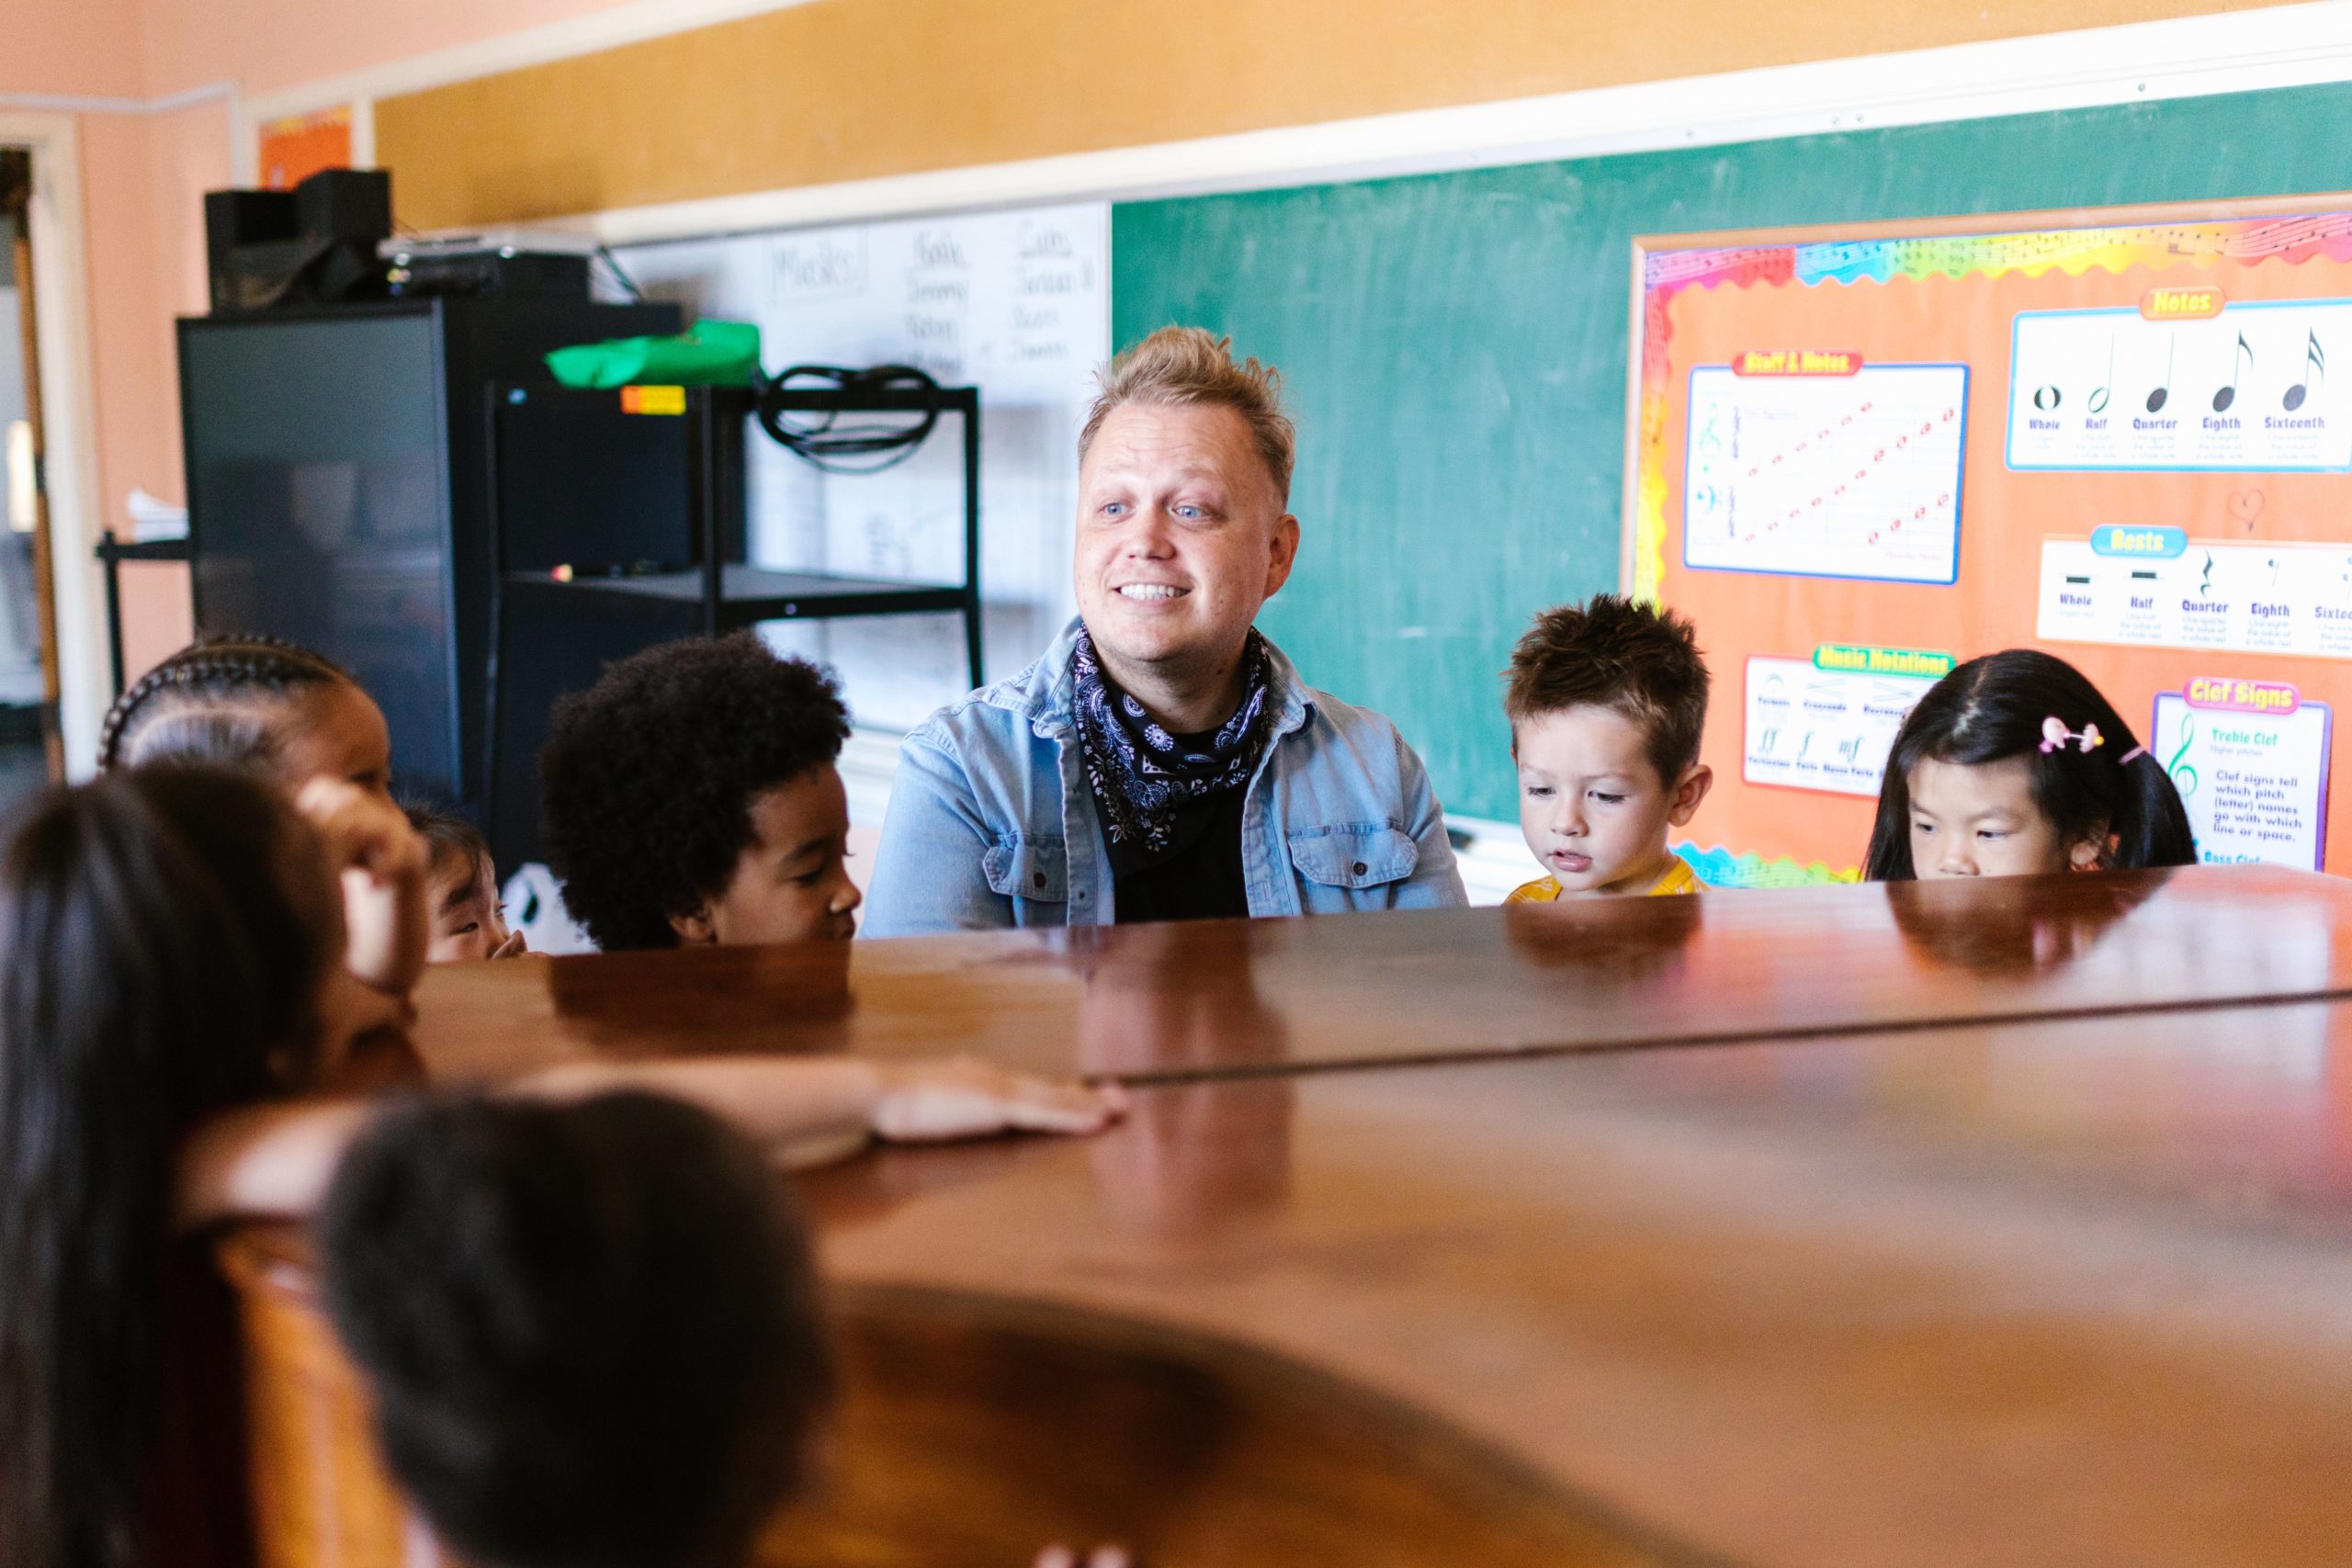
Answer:
POLYGON ((315 839, 254 778, 132 769, 16 818, 0 853, 9 1568, 136 1568, 158 1544, 174 1161, 209 1114, 306 1077, 332 929, 315 839))

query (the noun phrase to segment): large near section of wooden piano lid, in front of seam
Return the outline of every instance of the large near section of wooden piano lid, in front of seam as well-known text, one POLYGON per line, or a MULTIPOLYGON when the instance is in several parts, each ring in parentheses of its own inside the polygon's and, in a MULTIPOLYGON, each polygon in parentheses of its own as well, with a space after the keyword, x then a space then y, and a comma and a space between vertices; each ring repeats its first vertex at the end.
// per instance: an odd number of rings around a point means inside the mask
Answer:
POLYGON ((1141 1088, 847 1288, 1270 1352, 1740 1563, 2352 1561, 2352 1009, 1141 1088))

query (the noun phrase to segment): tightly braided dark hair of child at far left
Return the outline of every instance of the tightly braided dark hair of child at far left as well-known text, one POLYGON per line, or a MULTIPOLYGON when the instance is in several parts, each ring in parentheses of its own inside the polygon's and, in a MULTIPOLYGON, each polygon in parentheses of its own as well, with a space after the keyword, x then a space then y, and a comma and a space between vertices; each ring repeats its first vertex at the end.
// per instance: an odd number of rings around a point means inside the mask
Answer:
POLYGON ((198 637, 106 710, 99 771, 158 757, 266 769, 275 755, 268 710, 334 682, 358 684, 325 654, 280 637, 198 637))

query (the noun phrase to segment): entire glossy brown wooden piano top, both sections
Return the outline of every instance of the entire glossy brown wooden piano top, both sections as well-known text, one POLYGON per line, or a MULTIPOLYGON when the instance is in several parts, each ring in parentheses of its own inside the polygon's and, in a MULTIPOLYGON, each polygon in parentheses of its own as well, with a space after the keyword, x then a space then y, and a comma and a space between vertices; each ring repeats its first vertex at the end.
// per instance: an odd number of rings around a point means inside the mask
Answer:
POLYGON ((437 971, 421 1044, 1124 1077, 1096 1140, 800 1178, 842 1300, 1296 1368, 1625 1561, 2352 1561, 2347 917, 2180 870, 543 959, 437 971))

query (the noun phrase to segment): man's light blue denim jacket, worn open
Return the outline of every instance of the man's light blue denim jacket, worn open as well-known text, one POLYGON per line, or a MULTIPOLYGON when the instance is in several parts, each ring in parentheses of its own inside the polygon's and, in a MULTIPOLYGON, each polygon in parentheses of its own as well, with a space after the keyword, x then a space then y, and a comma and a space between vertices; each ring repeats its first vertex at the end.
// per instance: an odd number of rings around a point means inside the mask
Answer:
MULTIPOLYGON (((866 936, 1108 926, 1110 858, 1073 715, 1077 621, 1044 658, 931 715, 898 750, 866 936)), ((1397 726, 1298 684, 1272 642, 1275 733, 1242 799, 1251 914, 1468 903, 1444 813, 1397 726)))

